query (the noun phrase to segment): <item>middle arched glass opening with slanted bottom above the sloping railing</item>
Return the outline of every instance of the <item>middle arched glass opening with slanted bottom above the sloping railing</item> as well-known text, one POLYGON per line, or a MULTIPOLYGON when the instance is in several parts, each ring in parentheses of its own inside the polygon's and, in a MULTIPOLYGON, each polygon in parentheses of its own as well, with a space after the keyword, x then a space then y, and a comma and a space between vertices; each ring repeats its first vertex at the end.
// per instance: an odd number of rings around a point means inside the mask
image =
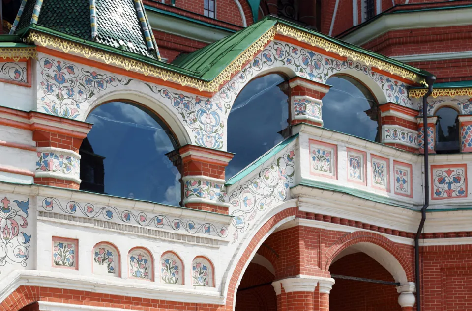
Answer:
POLYGON ((289 86, 280 74, 249 82, 237 96, 228 117, 228 151, 235 153, 226 168, 233 177, 290 135, 289 86))

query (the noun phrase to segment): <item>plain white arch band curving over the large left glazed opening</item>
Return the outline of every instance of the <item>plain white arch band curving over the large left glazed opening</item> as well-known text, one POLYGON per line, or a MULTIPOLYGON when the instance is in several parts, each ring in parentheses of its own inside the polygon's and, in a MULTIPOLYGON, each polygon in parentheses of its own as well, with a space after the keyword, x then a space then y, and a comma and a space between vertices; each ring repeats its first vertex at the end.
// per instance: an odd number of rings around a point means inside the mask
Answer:
POLYGON ((155 113, 162 121, 164 121, 169 129, 174 133, 179 146, 192 144, 190 139, 191 130, 187 129, 183 122, 178 118, 174 111, 169 109, 165 104, 156 100, 155 97, 149 96, 146 93, 132 90, 114 90, 104 93, 93 99, 84 112, 85 118, 89 113, 101 104, 110 102, 133 102, 147 108, 152 113, 155 113))

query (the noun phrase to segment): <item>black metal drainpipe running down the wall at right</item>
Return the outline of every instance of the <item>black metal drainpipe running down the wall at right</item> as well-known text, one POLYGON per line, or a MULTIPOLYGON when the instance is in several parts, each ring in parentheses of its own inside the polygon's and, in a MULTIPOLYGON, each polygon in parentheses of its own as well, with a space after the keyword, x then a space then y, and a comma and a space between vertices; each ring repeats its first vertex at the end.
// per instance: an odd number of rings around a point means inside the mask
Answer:
POLYGON ((416 285, 416 311, 421 311, 421 284, 419 279, 419 236, 426 220, 426 208, 429 206, 429 161, 428 161, 428 96, 433 92, 435 76, 426 77, 428 92, 423 96, 423 149, 424 149, 424 205, 421 208, 421 221, 414 237, 414 272, 416 285))

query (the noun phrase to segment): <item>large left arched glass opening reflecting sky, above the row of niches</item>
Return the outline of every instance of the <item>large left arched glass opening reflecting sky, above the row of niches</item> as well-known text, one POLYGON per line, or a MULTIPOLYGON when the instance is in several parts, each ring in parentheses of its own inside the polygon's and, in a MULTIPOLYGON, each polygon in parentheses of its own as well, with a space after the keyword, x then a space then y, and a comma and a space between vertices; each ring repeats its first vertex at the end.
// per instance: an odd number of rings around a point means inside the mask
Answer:
POLYGON ((166 156, 178 147, 167 124, 130 102, 93 109, 79 150, 81 190, 178 205, 180 172, 166 156))

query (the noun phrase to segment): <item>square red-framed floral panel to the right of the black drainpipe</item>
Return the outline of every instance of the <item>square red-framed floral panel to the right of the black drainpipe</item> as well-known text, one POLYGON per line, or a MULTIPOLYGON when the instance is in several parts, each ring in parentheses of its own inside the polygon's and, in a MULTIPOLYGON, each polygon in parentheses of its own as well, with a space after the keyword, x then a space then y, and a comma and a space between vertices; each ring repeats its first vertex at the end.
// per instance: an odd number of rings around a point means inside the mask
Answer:
MULTIPOLYGON (((453 167, 455 168, 455 167, 453 167)), ((433 168, 434 169, 434 168, 433 168)), ((467 180, 463 168, 434 170, 433 199, 467 197, 467 180), (444 197, 446 195, 446 197, 444 197)))

